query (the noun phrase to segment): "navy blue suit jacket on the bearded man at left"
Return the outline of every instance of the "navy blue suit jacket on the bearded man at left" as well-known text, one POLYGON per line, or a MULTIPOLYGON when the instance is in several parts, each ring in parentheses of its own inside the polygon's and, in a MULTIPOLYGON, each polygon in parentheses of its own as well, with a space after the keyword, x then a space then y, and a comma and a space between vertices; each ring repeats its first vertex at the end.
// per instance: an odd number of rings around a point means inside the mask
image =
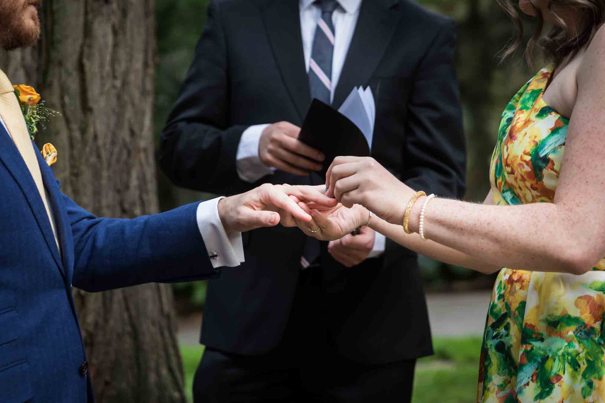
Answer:
MULTIPOLYGON (((35 147, 35 145, 33 145, 35 147)), ((0 125, 0 402, 92 402, 71 287, 90 292, 215 278, 198 204, 134 220, 94 217, 60 192, 36 148, 62 254, 38 189, 0 125)))

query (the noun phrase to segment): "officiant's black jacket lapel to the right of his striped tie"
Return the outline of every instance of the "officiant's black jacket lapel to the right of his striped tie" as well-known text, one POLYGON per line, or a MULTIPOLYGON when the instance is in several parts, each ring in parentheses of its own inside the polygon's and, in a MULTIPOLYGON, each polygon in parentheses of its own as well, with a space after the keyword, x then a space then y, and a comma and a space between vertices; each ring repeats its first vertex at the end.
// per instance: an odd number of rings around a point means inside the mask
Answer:
MULTIPOLYGON (((353 87, 367 85, 401 20, 399 0, 364 0, 355 34, 336 85, 332 105, 339 108, 353 87)), ((376 94, 374 94, 375 96, 376 94)))

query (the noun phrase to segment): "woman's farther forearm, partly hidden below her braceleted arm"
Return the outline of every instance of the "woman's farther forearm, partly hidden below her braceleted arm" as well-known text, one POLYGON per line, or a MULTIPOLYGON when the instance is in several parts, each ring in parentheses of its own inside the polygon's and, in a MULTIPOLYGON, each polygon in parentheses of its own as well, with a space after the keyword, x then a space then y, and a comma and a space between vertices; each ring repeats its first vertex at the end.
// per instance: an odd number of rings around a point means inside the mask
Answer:
POLYGON ((372 217, 370 228, 380 232, 387 238, 411 249, 414 252, 430 257, 443 263, 454 264, 456 266, 468 267, 484 274, 492 274, 500 270, 502 266, 486 263, 485 260, 471 257, 463 252, 456 251, 451 247, 444 246, 431 240, 422 240, 418 234, 405 234, 401 225, 387 223, 379 217, 372 217))

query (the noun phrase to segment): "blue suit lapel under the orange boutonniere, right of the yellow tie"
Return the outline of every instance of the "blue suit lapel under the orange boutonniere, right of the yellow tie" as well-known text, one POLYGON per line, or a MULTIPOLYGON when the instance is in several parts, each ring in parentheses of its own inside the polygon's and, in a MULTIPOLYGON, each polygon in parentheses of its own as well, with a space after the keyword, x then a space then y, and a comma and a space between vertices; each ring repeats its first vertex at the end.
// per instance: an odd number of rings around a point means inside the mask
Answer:
POLYGON ((63 197, 57 184, 57 179, 54 176, 53 169, 48 166, 42 154, 38 152, 38 165, 40 166, 40 172, 42 172, 42 182, 50 198, 50 208, 54 214, 54 223, 57 226, 57 237, 59 237, 59 244, 61 251, 63 252, 63 267, 67 280, 71 283, 71 277, 73 276, 73 237, 71 235, 71 226, 65 206, 63 203, 63 197))

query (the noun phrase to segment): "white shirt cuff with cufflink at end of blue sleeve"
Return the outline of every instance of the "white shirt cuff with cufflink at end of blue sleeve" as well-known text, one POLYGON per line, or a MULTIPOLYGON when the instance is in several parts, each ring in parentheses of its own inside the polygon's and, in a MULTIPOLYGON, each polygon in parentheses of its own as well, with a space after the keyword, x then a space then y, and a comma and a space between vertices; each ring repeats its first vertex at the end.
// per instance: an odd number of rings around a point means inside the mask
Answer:
POLYGON ((244 246, 241 241, 241 232, 227 234, 218 216, 218 201, 224 197, 217 197, 203 201, 197 206, 197 226, 201 238, 206 244, 211 257, 212 266, 235 267, 244 263, 244 246), (212 258, 213 255, 216 257, 212 258))

